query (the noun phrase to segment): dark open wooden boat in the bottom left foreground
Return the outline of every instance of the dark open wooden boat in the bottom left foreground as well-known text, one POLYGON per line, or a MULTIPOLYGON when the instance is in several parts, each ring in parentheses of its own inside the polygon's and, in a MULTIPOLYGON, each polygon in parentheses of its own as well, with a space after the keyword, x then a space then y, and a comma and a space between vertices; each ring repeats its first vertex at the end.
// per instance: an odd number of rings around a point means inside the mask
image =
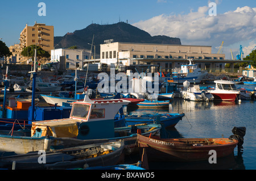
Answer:
POLYGON ((13 155, 0 158, 0 167, 11 169, 72 169, 85 165, 90 167, 112 166, 119 163, 123 141, 105 142, 92 145, 82 145, 67 149, 13 155), (41 159, 40 159, 41 158, 41 159))

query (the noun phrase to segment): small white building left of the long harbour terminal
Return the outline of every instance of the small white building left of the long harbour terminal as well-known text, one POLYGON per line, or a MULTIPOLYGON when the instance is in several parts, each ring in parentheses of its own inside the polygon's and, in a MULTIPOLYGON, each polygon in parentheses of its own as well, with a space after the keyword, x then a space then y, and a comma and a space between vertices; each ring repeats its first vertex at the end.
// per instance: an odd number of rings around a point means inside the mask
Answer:
POLYGON ((92 53, 86 49, 59 48, 51 50, 51 62, 59 62, 60 57, 65 57, 65 68, 76 69, 84 66, 84 60, 89 60, 92 53))

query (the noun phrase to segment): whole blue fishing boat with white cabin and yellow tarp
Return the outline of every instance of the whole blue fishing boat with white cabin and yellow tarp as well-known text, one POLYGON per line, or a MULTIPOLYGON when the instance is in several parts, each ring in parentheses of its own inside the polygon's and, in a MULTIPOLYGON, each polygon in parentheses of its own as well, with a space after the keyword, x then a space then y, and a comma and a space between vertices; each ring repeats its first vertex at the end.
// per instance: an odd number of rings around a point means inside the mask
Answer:
POLYGON ((60 149, 86 142, 106 142, 123 139, 128 148, 137 147, 137 131, 145 136, 158 135, 160 124, 114 127, 118 110, 130 102, 121 99, 90 100, 74 102, 68 119, 33 121, 30 130, 20 129, 8 135, 0 134, 0 151, 16 154, 30 151, 60 149), (17 135, 17 136, 16 136, 17 135))

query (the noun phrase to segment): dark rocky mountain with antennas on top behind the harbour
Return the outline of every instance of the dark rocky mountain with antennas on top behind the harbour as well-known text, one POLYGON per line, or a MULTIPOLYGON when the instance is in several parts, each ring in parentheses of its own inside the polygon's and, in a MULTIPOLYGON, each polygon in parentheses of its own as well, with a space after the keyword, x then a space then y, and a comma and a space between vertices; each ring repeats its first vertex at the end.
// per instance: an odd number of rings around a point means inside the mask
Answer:
POLYGON ((96 53, 100 54, 100 44, 104 44, 104 40, 113 39, 114 42, 125 43, 155 43, 155 44, 179 44, 181 41, 177 37, 168 36, 151 36, 146 31, 131 24, 119 22, 115 24, 90 24, 82 30, 76 30, 73 33, 67 33, 64 36, 54 37, 55 48, 68 48, 76 45, 77 48, 90 49, 94 35, 94 45, 96 45, 96 53), (88 44, 89 43, 89 44, 88 44))

